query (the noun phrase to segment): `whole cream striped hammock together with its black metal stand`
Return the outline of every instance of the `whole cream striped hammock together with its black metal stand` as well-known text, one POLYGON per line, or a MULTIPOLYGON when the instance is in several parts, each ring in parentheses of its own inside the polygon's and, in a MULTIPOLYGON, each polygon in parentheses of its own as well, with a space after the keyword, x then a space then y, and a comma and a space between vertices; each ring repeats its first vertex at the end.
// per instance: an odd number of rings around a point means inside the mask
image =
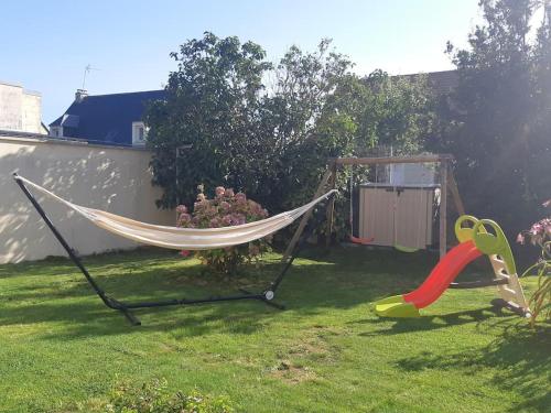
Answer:
MULTIPOLYGON (((239 294, 234 295, 225 295, 225 296, 208 296, 204 298, 168 298, 161 301, 147 301, 147 302, 121 302, 115 300, 114 297, 107 295, 107 293, 99 286, 96 280, 88 272, 86 267, 84 265, 80 257, 76 253, 76 251, 68 244, 63 235, 55 228, 55 225, 46 215, 46 211, 36 198, 31 194, 26 185, 33 187, 34 189, 41 192, 48 197, 65 204, 67 207, 74 209, 83 217, 89 219, 91 222, 97 225, 100 228, 104 228, 110 232, 117 233, 121 237, 149 243, 153 246, 172 248, 172 249, 186 249, 186 250, 205 250, 213 248, 222 248, 235 246, 238 243, 245 243, 249 241, 253 241, 256 239, 266 237, 281 228, 287 227, 293 220, 299 218, 300 216, 306 214, 309 216, 309 211, 321 200, 328 198, 334 195, 336 191, 329 191, 325 195, 316 197, 311 203, 303 205, 296 209, 292 209, 287 213, 278 214, 273 217, 262 219, 255 222, 244 224, 234 227, 224 227, 224 228, 206 228, 206 229, 194 229, 194 228, 176 228, 176 227, 166 227, 161 225, 151 225, 145 222, 140 222, 133 219, 125 218, 115 214, 106 213, 99 209, 93 209, 83 207, 80 205, 76 205, 69 203, 66 199, 58 197, 57 195, 51 193, 50 191, 43 188, 42 186, 19 176, 17 173, 13 174, 13 178, 17 184, 29 198, 31 204, 34 206, 39 215, 42 217, 46 226, 50 228, 52 233, 55 236, 57 241, 62 244, 62 247, 67 252, 68 257, 75 265, 80 270, 83 275, 86 278, 86 281, 94 289, 96 294, 101 298, 104 304, 111 308, 121 312, 130 323, 133 325, 140 325, 140 320, 133 314, 133 309, 138 308, 152 308, 152 307, 166 307, 166 306, 179 306, 179 305, 195 305, 195 304, 204 304, 204 303, 220 303, 220 302, 235 302, 239 300, 257 300, 261 301, 270 306, 276 308, 283 309, 284 307, 280 304, 273 303, 272 300, 276 296, 276 291, 278 290, 280 283, 283 281, 287 272, 291 268, 295 253, 293 252, 283 264, 280 273, 276 276, 270 284, 260 292, 249 292, 246 290, 239 289, 239 294), (26 184, 26 185, 25 185, 26 184)), ((305 240, 313 233, 315 227, 300 237, 300 241, 293 244, 293 251, 295 249, 300 249, 305 240)))

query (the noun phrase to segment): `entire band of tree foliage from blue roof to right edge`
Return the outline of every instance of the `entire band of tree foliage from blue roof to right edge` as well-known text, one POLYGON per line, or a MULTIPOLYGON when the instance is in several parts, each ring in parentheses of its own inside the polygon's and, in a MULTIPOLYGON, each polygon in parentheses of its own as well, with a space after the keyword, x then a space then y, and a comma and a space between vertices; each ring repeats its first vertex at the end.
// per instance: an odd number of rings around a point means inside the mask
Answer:
MULTIPOLYGON (((160 206, 190 204, 198 184, 224 185, 276 214, 312 196, 328 157, 392 146, 452 153, 468 213, 515 236, 541 216, 551 188, 551 24, 549 10, 533 22, 539 6, 482 0, 468 47, 447 45, 458 84, 446 95, 423 76, 359 77, 328 40, 313 52, 292 46, 278 64, 237 37, 207 32, 184 43, 166 101, 147 116, 160 206), (186 143, 193 149, 176 159, 186 143)), ((348 176, 339 174, 342 198, 348 176)), ((343 236, 348 208, 337 206, 343 236)))

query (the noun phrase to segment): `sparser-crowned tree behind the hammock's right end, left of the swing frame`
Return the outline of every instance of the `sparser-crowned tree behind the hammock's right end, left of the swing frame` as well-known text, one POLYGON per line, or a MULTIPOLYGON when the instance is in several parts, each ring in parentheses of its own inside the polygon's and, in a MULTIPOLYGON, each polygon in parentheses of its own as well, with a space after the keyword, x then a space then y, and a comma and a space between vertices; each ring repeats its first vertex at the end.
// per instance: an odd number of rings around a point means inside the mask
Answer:
POLYGON ((324 122, 327 100, 352 63, 323 40, 312 53, 292 46, 272 73, 271 94, 261 101, 260 133, 272 149, 256 197, 270 210, 283 210, 312 196, 327 157, 346 151, 346 121, 324 122))

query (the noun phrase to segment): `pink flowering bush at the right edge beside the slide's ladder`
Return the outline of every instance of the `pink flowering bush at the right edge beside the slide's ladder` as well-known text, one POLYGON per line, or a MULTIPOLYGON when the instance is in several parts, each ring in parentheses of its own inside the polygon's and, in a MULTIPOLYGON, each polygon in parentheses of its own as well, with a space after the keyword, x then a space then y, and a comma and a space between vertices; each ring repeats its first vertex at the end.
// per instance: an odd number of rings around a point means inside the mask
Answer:
MULTIPOLYGON (((551 206, 551 199, 543 203, 543 206, 551 206)), ((529 230, 520 232, 517 241, 525 243, 527 238, 532 244, 541 248, 540 259, 525 271, 525 274, 537 273, 539 276, 538 290, 530 298, 533 325, 539 315, 545 319, 551 316, 551 218, 543 218, 533 224, 529 230)))

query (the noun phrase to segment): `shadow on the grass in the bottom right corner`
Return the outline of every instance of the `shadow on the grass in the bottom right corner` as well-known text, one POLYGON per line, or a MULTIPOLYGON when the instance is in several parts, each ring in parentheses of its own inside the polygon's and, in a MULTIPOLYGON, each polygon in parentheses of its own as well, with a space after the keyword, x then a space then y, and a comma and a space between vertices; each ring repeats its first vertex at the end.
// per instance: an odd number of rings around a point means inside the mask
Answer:
POLYGON ((463 369, 467 374, 476 374, 480 367, 494 368, 490 379, 504 391, 523 395, 523 402, 510 411, 549 412, 551 406, 551 328, 540 327, 534 332, 522 326, 504 326, 499 335, 487 347, 473 348, 451 355, 434 355, 430 350, 420 356, 398 361, 404 371, 463 369))

